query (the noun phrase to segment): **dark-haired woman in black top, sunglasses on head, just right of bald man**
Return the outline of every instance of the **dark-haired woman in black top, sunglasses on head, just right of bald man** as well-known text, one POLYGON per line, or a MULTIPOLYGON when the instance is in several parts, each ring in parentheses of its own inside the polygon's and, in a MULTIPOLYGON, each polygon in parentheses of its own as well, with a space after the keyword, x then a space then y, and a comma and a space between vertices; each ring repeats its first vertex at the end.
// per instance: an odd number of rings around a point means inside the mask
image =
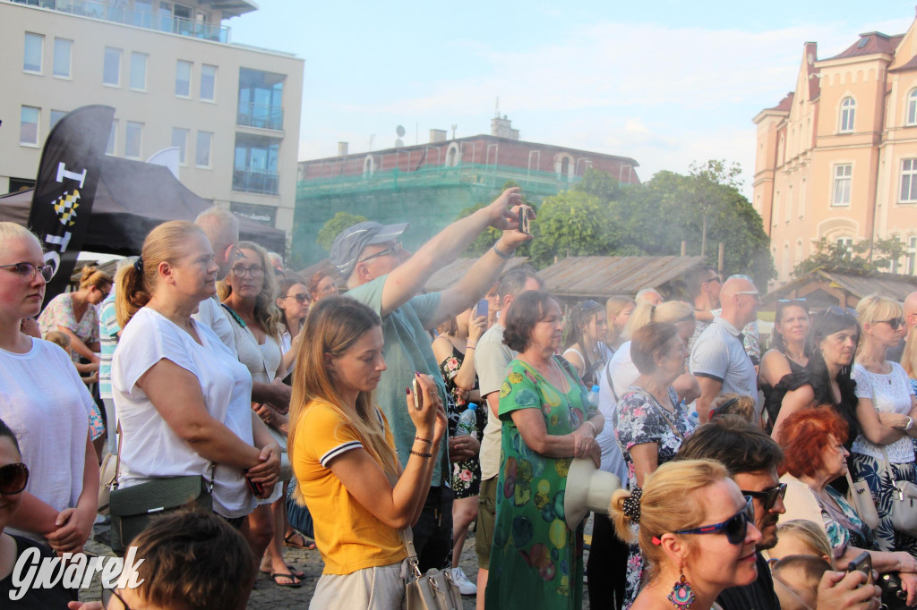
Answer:
POLYGON ((809 364, 806 353, 806 341, 809 338, 809 309, 805 299, 779 300, 774 314, 774 332, 770 339, 770 349, 761 357, 758 367, 757 385, 764 393, 764 408, 768 421, 773 424, 780 410, 780 399, 786 393, 778 391, 776 400, 771 401, 774 387, 793 374, 805 370, 809 364))

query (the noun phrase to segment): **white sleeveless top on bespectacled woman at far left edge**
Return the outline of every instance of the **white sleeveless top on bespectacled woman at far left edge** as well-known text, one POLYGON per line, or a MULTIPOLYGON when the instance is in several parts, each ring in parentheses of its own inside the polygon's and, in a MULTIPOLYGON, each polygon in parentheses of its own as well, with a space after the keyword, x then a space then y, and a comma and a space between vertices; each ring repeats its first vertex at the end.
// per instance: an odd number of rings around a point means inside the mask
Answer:
MULTIPOLYGON (((26 491, 55 510, 76 507, 93 397, 76 367, 54 343, 32 339, 26 354, 0 350, 0 419, 16 434, 28 466, 26 491)), ((40 536, 6 528, 44 542, 40 536)))

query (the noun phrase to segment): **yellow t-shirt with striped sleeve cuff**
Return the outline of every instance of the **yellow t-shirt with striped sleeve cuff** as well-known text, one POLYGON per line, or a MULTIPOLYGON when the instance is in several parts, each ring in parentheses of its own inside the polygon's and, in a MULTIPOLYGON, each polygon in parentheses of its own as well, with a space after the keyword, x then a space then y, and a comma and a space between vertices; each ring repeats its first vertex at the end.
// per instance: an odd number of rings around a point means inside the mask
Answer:
MULTIPOLYGON (((385 440, 394 447, 388 420, 377 408, 385 440)), ((391 565, 407 557, 398 531, 382 523, 350 495, 328 463, 341 453, 361 450, 352 426, 324 402, 306 405, 293 447, 293 474, 315 521, 315 546, 325 574, 349 574, 391 565)))

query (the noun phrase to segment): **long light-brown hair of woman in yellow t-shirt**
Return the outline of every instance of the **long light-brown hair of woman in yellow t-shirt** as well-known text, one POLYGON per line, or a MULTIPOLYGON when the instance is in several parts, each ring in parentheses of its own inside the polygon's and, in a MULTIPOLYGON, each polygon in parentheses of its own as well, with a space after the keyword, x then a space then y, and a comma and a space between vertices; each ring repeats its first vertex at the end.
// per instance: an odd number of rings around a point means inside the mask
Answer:
MULTIPOLYGON (((366 332, 382 321, 379 315, 362 303, 349 297, 328 297, 318 301, 305 319, 303 342, 296 354, 293 369, 293 396, 290 399, 290 436, 287 449, 294 463, 296 436, 309 404, 318 401, 333 408, 337 414, 357 431, 363 448, 379 463, 387 474, 398 474, 398 456, 385 440, 385 429, 373 407, 370 392, 360 392, 357 397, 358 418, 351 418, 343 408, 344 401, 337 392, 334 380, 328 375, 325 355, 343 355, 366 332)), ((296 499, 304 502, 300 487, 296 499)))

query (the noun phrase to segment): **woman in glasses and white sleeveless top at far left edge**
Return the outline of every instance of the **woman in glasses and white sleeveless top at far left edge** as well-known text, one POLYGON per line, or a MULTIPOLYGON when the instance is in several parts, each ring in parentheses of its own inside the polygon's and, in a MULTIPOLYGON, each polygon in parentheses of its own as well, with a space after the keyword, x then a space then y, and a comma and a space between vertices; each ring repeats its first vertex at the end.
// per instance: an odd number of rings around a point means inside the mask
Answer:
POLYGON ((83 549, 98 503, 89 435, 94 400, 60 347, 21 332, 38 314, 53 268, 38 238, 0 223, 0 418, 22 439, 32 477, 8 527, 59 552, 83 549))

